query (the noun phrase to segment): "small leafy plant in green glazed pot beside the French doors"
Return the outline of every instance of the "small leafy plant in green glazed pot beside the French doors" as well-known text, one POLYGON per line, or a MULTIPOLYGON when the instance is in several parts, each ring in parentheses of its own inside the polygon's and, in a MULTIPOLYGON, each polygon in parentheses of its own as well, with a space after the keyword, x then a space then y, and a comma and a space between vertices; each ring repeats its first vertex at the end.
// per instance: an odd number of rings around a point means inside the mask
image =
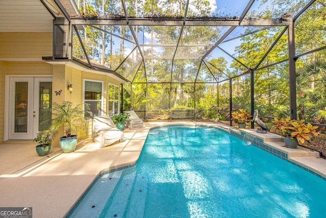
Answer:
POLYGON ((40 156, 46 156, 51 149, 52 134, 49 131, 39 131, 33 141, 37 142, 36 153, 40 156))

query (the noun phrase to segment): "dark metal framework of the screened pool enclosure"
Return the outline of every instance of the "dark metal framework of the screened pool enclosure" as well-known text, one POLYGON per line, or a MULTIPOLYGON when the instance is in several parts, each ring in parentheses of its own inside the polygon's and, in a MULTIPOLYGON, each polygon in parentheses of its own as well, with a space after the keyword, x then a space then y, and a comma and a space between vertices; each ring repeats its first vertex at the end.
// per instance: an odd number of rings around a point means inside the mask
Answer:
MULTIPOLYGON (((124 17, 112 17, 112 18, 100 18, 100 17, 83 17, 83 16, 76 16, 76 17, 71 17, 69 15, 69 13, 65 10, 65 8, 62 6, 62 4, 60 3, 59 0, 52 0, 62 11, 62 14, 64 16, 57 16, 55 13, 53 13, 51 11, 51 8, 47 5, 47 3, 43 0, 40 0, 43 5, 49 10, 49 12, 52 14, 54 21, 53 21, 53 55, 52 55, 52 60, 57 60, 58 58, 55 57, 55 47, 56 47, 56 31, 55 31, 55 27, 56 26, 68 26, 69 27, 69 35, 67 37, 67 44, 69 46, 67 46, 67 54, 68 60, 74 60, 74 58, 72 57, 72 32, 73 30, 75 30, 77 32, 78 27, 81 27, 83 25, 123 25, 123 26, 128 26, 130 29, 130 32, 132 34, 132 36, 136 39, 135 37, 135 33, 133 31, 132 26, 180 26, 181 27, 181 33, 180 36, 178 38, 178 42, 177 42, 177 47, 179 46, 179 42, 180 42, 180 38, 182 35, 182 29, 186 26, 230 26, 230 29, 214 44, 213 47, 211 47, 211 49, 209 51, 207 51, 204 56, 201 58, 201 64, 199 65, 198 71, 197 71, 197 75, 196 78, 198 76, 198 72, 200 70, 200 67, 202 64, 206 64, 205 63, 205 57, 215 48, 215 47, 219 47, 219 44, 223 41, 223 39, 225 39, 235 27, 238 26, 262 26, 262 27, 270 27, 270 26, 283 26, 284 29, 282 31, 282 33, 280 34, 280 36, 277 38, 277 40, 274 41, 274 43, 270 46, 270 48, 268 49, 268 51, 265 53, 265 55, 263 56, 263 58, 259 61, 259 63, 256 65, 256 67, 254 68, 250 68, 248 66, 246 66, 245 63, 241 63, 239 60, 237 60, 235 57, 233 57, 232 55, 230 55, 229 53, 227 53, 226 51, 221 50, 223 52, 226 53, 226 55, 230 56, 231 58, 233 58, 235 61, 239 62, 241 65, 243 65, 244 67, 246 67, 248 70, 242 72, 241 75, 237 75, 234 77, 229 77, 227 80, 229 81, 230 84, 230 99, 229 99, 229 113, 230 113, 230 117, 231 117, 231 112, 232 112, 232 80, 234 80, 237 77, 241 77, 243 75, 247 75, 250 74, 250 78, 251 78, 251 96, 250 96, 250 102, 251 102, 251 114, 253 114, 253 110, 254 110, 254 72, 256 70, 262 69, 262 68, 266 68, 268 66, 273 66, 276 64, 280 64, 282 62, 286 62, 288 61, 288 65, 289 65, 289 100, 290 100, 290 118, 291 119, 296 119, 297 115, 296 115, 296 89, 295 89, 295 61, 302 57, 305 56, 307 54, 311 54, 323 49, 326 49, 326 46, 322 46, 319 47, 315 50, 309 51, 309 52, 305 52, 303 54, 299 54, 299 55, 295 55, 295 41, 294 41, 294 22, 295 20, 301 15, 303 14, 313 3, 316 2, 316 0, 311 0, 304 8, 302 8, 296 15, 293 16, 293 18, 289 18, 289 17, 279 17, 276 19, 255 19, 255 18, 246 18, 246 15, 248 13, 248 11, 250 10, 250 8, 252 7, 252 5, 255 3, 255 0, 250 0, 249 3, 247 4, 246 8, 243 10, 243 12, 241 13, 241 15, 239 17, 232 17, 232 18, 219 18, 219 17, 211 17, 211 18, 201 18, 201 17, 196 17, 196 18, 187 18, 187 9, 188 9, 188 5, 189 5, 189 0, 186 1, 186 5, 185 5, 185 11, 184 11, 184 16, 183 17, 147 17, 147 18, 141 18, 141 17, 130 17, 128 15, 127 9, 126 9, 126 2, 125 0, 121 0, 122 6, 123 6, 123 12, 125 14, 124 17), (261 68, 259 68, 260 63, 262 63, 262 61, 264 60, 264 58, 268 55, 268 53, 273 49, 274 45, 278 42, 279 38, 282 36, 282 34, 284 34, 287 31, 288 33, 288 59, 279 61, 277 63, 273 63, 267 66, 263 66, 261 68)), ((83 41, 80 39, 79 37, 79 42, 80 44, 82 44, 83 46, 83 41)), ((139 50, 139 53, 142 56, 142 61, 144 62, 145 58, 144 55, 142 53, 142 50, 140 49, 140 44, 138 43, 137 40, 135 40, 135 49, 139 50)), ((117 74, 116 71, 114 70, 108 70, 108 69, 98 69, 98 68, 94 68, 94 65, 90 62, 87 52, 83 46, 83 50, 85 52, 85 55, 87 57, 88 63, 83 63, 83 62, 79 62, 79 64, 83 64, 87 67, 99 70, 99 71, 104 71, 104 72, 108 72, 111 74, 117 74)), ((174 52, 173 55, 173 61, 175 60, 175 54, 176 54, 177 49, 174 52)), ((127 59, 127 58, 126 58, 127 59)), ((126 59, 124 61, 126 61, 126 59)), ((77 60, 75 60, 77 61, 77 60)), ((123 61, 123 62, 124 62, 123 61)), ((122 63, 123 63, 122 62, 122 63)), ((121 63, 121 64, 122 64, 121 63)), ((173 68, 173 65, 172 65, 173 68)), ((209 68, 208 68, 209 69, 209 68)), ((146 69, 145 69, 146 70, 146 69)), ((126 78, 124 78, 126 79, 126 78)), ((127 81, 127 80, 126 80, 127 81)), ((129 81, 132 83, 132 81, 129 81)), ((217 81, 216 83, 219 85, 219 83, 224 82, 224 81, 217 81)), ((147 79, 146 79, 146 83, 147 83, 147 79)), ((160 82, 157 82, 157 84, 160 84, 160 82)), ((166 84, 166 83, 161 83, 161 84, 166 84)), ((172 86, 173 82, 170 81, 170 86, 172 86)), ((194 82, 194 86, 196 84, 196 80, 194 82)), ((121 95, 122 96, 122 95, 121 95)), ((194 94, 194 98, 195 98, 195 94, 194 94)), ((123 105, 123 104, 121 104, 123 105)), ((121 108, 122 109, 122 108, 121 108)), ((171 106, 169 108, 170 110, 170 114, 171 114, 171 106)), ((145 108, 145 112, 147 112, 146 108, 145 108)), ((147 113, 146 113, 147 114, 147 113)), ((194 106, 194 119, 196 119, 196 105, 194 106)), ((147 118, 147 116, 145 117, 147 118)), ((230 119, 230 125, 232 126, 232 120, 230 119)), ((254 126, 254 124, 252 123, 252 127, 254 126)))

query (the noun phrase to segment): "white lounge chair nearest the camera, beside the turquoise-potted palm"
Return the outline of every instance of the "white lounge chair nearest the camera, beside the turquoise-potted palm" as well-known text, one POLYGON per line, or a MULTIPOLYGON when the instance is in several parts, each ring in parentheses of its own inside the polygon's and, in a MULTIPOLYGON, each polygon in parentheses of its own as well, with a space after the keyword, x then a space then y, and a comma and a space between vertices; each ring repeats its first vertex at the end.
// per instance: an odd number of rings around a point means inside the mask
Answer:
POLYGON ((93 117, 93 141, 100 142, 100 147, 109 146, 122 137, 123 133, 117 129, 110 115, 93 117))

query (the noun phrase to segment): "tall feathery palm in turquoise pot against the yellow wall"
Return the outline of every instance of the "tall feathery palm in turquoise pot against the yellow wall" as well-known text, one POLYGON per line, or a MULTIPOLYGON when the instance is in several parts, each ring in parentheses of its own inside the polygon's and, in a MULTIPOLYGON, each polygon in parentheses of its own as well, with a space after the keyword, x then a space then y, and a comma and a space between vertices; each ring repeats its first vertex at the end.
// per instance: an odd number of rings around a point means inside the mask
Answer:
POLYGON ((48 127, 53 137, 57 137, 63 127, 65 135, 60 138, 60 147, 64 153, 73 152, 77 146, 77 134, 86 135, 83 103, 72 106, 72 102, 52 103, 52 120, 48 127))

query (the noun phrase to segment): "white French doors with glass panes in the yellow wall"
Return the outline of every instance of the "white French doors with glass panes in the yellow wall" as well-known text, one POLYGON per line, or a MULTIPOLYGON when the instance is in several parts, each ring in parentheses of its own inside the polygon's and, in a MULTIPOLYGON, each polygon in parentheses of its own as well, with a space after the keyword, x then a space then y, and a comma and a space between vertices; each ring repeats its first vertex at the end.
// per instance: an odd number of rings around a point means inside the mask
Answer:
POLYGON ((51 107, 51 77, 10 77, 8 139, 30 140, 42 130, 51 107))

